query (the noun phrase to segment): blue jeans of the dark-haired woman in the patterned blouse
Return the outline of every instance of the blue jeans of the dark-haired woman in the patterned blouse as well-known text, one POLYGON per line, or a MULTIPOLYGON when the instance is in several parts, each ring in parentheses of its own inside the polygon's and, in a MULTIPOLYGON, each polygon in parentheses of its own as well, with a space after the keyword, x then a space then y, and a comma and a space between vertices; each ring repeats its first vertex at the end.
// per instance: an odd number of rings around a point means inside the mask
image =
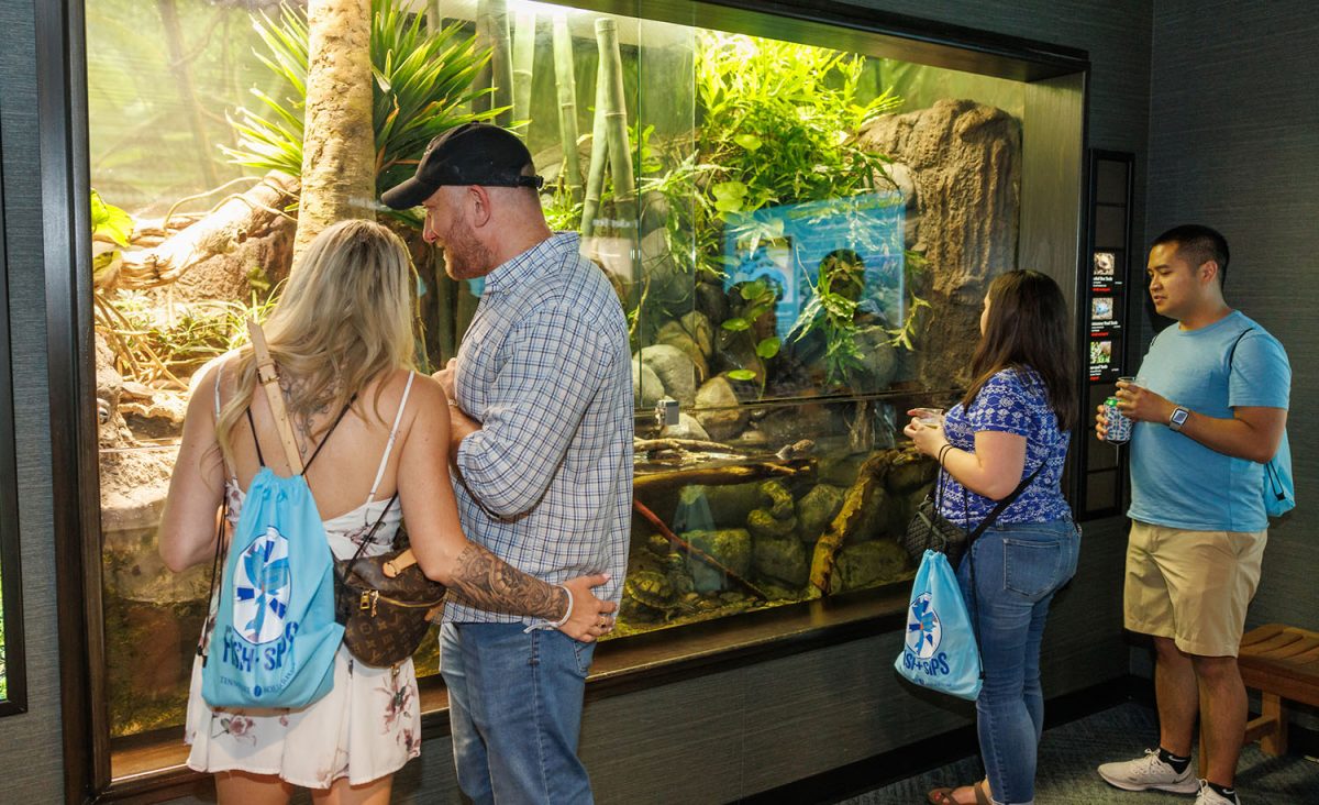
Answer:
POLYGON ((1013 523, 987 529, 958 567, 985 672, 976 699, 980 754, 1000 805, 1035 800, 1045 722, 1039 644, 1049 603, 1076 573, 1079 550, 1080 532, 1071 520, 1013 523))

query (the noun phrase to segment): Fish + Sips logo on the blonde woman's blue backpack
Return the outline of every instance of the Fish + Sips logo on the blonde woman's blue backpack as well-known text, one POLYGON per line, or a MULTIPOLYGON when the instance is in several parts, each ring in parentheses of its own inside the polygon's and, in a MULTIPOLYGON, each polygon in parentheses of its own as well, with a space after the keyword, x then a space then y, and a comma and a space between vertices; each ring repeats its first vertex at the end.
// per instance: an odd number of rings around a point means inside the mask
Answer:
MULTIPOLYGON (((293 676, 297 668, 293 637, 298 633, 298 622, 286 618, 291 591, 289 540, 274 527, 266 528, 237 561, 233 626, 224 633, 224 662, 245 673, 278 673, 288 665, 280 674, 281 684, 293 676)), ((261 695, 261 689, 253 693, 261 695)))

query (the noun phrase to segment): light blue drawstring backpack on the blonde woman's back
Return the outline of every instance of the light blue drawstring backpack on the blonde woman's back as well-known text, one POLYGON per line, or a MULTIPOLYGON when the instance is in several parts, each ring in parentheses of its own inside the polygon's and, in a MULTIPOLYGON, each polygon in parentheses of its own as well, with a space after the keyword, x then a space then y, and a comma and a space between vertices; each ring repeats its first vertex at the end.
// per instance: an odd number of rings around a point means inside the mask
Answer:
MULTIPOLYGON (((257 377, 295 475, 276 475, 256 442, 261 468, 243 499, 220 574, 215 628, 202 660, 202 698, 212 707, 305 707, 334 686, 335 653, 343 643, 343 624, 335 620, 334 556, 305 472, 348 406, 303 466, 265 338, 253 322, 248 329, 257 377)), ((216 561, 222 544, 216 538, 216 561)))

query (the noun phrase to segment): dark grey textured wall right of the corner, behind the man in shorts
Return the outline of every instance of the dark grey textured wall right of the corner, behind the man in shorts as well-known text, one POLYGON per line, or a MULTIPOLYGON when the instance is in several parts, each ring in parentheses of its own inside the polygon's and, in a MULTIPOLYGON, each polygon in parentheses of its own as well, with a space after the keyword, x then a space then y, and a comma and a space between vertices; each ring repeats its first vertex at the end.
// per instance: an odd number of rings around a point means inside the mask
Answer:
POLYGON ((1150 75, 1149 238, 1184 222, 1232 248, 1228 304, 1291 359, 1289 435, 1299 505, 1270 529, 1248 626, 1319 628, 1319 16, 1302 0, 1155 5, 1150 75))

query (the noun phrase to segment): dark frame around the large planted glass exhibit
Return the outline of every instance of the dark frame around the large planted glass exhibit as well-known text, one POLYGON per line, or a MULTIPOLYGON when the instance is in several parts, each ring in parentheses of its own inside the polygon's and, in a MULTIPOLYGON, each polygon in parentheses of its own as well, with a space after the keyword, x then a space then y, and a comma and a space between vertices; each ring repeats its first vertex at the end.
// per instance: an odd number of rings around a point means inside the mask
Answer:
MULTIPOLYGON (((807 40, 827 33, 830 38, 819 44, 830 48, 845 48, 857 53, 874 53, 882 48, 886 57, 1025 82, 1072 75, 1080 75, 1084 82, 1089 73, 1088 55, 1080 50, 842 3, 648 0, 644 7, 636 1, 574 5, 704 28, 732 28, 778 38, 787 38, 785 26, 805 26, 807 40)), ((83 0, 36 4, 41 212, 45 223, 46 338, 55 501, 55 589, 61 602, 58 619, 65 797, 67 802, 124 797, 160 800, 208 785, 208 781, 199 780, 195 772, 186 768, 142 773, 127 780, 113 780, 111 773, 98 437, 95 405, 91 404, 95 384, 92 289, 82 269, 91 256, 90 210, 84 201, 90 194, 90 158, 83 8, 83 0)), ((803 41, 799 28, 791 30, 791 38, 803 41)), ((1086 103, 1083 98, 1082 115, 1086 113, 1086 103)), ((1084 139, 1084 117, 1082 137, 1084 139)), ((1080 170, 1084 170, 1083 165, 1078 166, 1078 172, 1080 170)), ((1075 210, 1080 210, 1079 198, 1075 210)), ((762 616, 745 622, 736 619, 751 629, 773 632, 761 637, 721 643, 710 637, 720 629, 736 631, 727 626, 702 629, 685 627, 649 640, 648 636, 630 637, 619 643, 642 648, 671 647, 674 640, 685 640, 690 633, 692 639, 707 640, 707 645, 703 651, 679 652, 679 660, 642 662, 640 668, 592 673, 587 695, 613 695, 637 686, 699 676, 737 664, 757 662, 768 656, 810 651, 900 628, 901 606, 892 614, 857 615, 855 620, 832 627, 815 626, 819 623, 816 614, 822 610, 840 612, 853 607, 855 612, 864 612, 864 606, 855 602, 809 602, 787 604, 781 607, 781 612, 760 614, 762 616), (859 606, 860 610, 856 608, 859 606)), ((611 666, 608 656, 613 651, 612 644, 601 647, 598 655, 600 668, 611 666)), ((616 651, 623 655, 628 647, 619 645, 616 651)), ((669 653, 673 651, 670 648, 669 653)), ((426 738, 445 734, 447 714, 427 714, 423 724, 426 738)))

